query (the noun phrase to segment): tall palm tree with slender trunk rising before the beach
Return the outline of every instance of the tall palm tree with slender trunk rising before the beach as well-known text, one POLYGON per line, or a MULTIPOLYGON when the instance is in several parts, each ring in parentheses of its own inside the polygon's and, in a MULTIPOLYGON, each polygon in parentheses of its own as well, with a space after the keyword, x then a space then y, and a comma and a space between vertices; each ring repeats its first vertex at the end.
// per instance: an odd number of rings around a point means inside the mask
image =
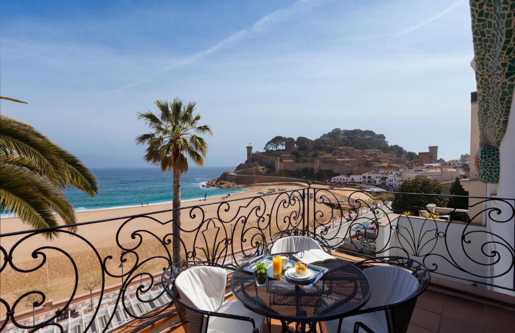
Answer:
POLYGON ((161 167, 162 172, 173 170, 173 238, 172 248, 174 262, 181 261, 181 174, 188 170, 185 155, 198 166, 204 164, 208 144, 198 135, 213 135, 208 125, 198 125, 200 114, 193 114, 195 102, 184 105, 179 98, 172 102, 156 101, 160 114, 150 111, 139 112, 138 119, 147 122, 150 133, 136 138, 136 144, 146 144, 145 161, 161 167))

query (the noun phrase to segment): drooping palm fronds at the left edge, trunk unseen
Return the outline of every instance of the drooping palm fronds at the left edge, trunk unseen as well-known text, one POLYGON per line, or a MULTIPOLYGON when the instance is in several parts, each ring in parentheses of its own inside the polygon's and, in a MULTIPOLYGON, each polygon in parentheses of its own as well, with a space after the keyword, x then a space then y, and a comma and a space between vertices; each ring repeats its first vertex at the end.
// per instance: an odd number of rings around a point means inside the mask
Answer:
MULTIPOLYGON (((94 196, 95 176, 29 124, 3 114, 0 124, 0 212, 15 213, 35 229, 58 225, 54 213, 74 224, 75 211, 62 190, 73 186, 94 196)), ((56 235, 45 233, 50 239, 56 235)))

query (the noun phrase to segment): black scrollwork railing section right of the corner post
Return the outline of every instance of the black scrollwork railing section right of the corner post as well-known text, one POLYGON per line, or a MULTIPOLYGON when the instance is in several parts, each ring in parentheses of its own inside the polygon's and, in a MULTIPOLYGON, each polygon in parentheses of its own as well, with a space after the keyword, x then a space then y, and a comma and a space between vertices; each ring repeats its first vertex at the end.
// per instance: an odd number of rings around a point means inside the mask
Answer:
POLYGON ((432 273, 515 290, 515 199, 312 191, 310 229, 338 251, 409 257, 423 262, 432 273), (332 208, 321 208, 326 206, 332 208))

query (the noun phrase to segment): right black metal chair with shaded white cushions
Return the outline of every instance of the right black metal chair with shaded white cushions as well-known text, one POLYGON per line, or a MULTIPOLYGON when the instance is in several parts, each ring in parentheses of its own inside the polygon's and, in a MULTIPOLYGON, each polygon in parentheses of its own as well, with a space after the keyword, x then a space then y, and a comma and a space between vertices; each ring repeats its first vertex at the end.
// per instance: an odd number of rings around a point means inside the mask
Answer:
POLYGON ((328 333, 406 332, 417 298, 430 281, 427 268, 402 257, 370 258, 356 265, 370 282, 370 299, 360 314, 325 322, 328 333))

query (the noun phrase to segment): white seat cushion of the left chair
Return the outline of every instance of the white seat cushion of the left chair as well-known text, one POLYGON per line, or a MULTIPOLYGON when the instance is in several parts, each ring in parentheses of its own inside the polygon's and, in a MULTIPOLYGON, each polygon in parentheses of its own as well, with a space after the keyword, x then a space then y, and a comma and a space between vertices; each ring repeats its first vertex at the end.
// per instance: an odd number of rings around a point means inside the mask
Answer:
MULTIPOLYGON (((260 332, 263 331, 264 328, 264 318, 262 315, 259 315, 255 312, 248 310, 246 307, 242 305, 236 299, 232 301, 227 301, 220 306, 218 311, 220 313, 230 313, 236 315, 243 315, 245 317, 251 317, 254 319, 256 328, 259 329, 260 332)), ((229 318, 220 318, 220 317, 210 317, 209 325, 207 333, 227 333, 227 332, 235 332, 235 333, 252 333, 252 323, 243 321, 243 320, 234 320, 229 318)))

